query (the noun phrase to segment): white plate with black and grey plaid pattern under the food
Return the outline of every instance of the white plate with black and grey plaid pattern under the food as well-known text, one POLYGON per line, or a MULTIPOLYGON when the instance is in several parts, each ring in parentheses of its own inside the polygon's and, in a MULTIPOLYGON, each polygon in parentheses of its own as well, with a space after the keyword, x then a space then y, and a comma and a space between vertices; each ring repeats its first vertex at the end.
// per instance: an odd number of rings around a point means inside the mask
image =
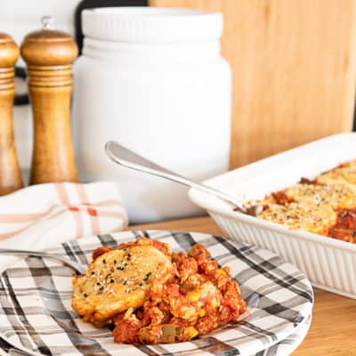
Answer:
POLYGON ((142 235, 167 242, 174 251, 203 244, 220 265, 231 267, 247 300, 247 312, 229 327, 189 343, 115 344, 109 329, 93 328, 71 309, 72 271, 54 260, 31 257, 0 276, 0 335, 45 355, 253 355, 293 335, 312 313, 312 287, 293 265, 270 251, 213 235, 124 231, 77 239, 51 252, 88 263, 96 247, 142 235))

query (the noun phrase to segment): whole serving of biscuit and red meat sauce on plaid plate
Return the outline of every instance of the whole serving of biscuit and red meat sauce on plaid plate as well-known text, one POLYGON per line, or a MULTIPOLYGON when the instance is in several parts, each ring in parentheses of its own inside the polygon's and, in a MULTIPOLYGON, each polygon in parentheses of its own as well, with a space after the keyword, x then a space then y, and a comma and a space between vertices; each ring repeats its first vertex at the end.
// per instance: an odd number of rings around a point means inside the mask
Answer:
POLYGON ((202 245, 173 253, 156 239, 99 247, 73 280, 72 306, 125 344, 189 341, 226 326, 246 310, 229 268, 202 245))

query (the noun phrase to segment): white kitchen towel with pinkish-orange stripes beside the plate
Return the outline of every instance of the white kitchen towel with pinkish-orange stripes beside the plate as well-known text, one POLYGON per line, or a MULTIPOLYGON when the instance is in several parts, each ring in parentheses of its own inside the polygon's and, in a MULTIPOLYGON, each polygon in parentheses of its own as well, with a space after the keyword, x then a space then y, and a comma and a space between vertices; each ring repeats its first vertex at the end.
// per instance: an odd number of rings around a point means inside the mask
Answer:
MULTIPOLYGON (((113 182, 38 184, 0 198, 0 248, 42 250, 126 226, 113 182)), ((0 271, 17 260, 1 255, 0 271)))

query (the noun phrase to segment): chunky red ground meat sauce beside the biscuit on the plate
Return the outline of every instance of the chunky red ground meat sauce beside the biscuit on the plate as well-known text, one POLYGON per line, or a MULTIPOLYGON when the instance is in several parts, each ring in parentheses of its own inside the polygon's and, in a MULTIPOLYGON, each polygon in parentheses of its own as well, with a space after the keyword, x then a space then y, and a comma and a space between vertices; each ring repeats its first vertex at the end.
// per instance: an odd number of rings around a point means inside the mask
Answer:
MULTIPOLYGON (((117 247, 99 247, 93 260, 117 247)), ((146 290, 145 301, 136 310, 120 312, 105 326, 113 330, 114 341, 122 344, 158 344, 189 341, 236 320, 247 304, 230 268, 220 268, 206 247, 195 245, 188 254, 172 253, 168 244, 155 239, 150 244, 172 259, 175 275, 162 282, 155 279, 146 290)), ((145 276, 147 279, 150 276, 145 276)))

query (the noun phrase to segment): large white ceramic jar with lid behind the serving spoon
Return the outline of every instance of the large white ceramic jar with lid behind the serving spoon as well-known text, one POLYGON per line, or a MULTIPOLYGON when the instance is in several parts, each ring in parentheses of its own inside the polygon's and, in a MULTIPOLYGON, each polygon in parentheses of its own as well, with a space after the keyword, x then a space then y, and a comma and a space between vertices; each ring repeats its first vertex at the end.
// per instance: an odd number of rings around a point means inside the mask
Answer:
POLYGON ((197 181, 228 169, 231 70, 220 13, 168 8, 83 12, 73 130, 82 181, 113 180, 132 223, 201 214, 186 188, 109 161, 116 140, 197 181))

